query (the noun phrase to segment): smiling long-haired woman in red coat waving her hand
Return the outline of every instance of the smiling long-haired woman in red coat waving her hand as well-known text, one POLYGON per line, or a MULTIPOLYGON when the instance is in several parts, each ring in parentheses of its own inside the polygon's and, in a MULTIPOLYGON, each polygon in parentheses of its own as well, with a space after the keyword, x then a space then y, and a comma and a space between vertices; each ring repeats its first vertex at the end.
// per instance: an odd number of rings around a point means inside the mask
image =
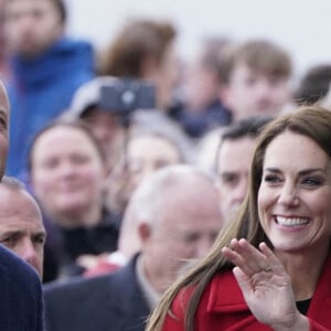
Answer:
POLYGON ((210 254, 150 318, 158 330, 331 330, 331 113, 261 132, 247 196, 210 254))

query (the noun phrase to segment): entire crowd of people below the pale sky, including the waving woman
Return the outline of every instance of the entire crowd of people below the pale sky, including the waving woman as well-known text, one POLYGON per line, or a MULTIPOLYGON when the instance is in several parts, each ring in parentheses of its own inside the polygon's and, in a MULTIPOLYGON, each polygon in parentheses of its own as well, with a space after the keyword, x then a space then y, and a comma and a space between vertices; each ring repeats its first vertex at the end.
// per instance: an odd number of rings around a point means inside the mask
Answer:
POLYGON ((331 330, 331 60, 0 12, 1 330, 331 330))

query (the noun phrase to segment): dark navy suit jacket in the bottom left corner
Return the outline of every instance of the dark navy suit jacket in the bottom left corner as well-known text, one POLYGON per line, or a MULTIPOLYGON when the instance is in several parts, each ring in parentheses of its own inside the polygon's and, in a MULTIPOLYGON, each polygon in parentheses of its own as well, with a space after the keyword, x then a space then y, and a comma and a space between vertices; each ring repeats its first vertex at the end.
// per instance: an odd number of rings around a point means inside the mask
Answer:
POLYGON ((0 245, 0 330, 42 331, 42 310, 36 273, 0 245))

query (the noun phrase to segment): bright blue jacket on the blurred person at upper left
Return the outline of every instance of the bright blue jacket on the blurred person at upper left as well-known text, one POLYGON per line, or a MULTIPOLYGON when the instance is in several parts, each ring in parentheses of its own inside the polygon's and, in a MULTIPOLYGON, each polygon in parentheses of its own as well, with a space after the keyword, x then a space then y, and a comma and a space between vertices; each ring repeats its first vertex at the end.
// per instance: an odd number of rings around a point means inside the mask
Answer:
POLYGON ((31 60, 12 58, 10 151, 7 173, 21 177, 33 136, 71 104, 74 92, 94 73, 93 47, 63 38, 31 60))

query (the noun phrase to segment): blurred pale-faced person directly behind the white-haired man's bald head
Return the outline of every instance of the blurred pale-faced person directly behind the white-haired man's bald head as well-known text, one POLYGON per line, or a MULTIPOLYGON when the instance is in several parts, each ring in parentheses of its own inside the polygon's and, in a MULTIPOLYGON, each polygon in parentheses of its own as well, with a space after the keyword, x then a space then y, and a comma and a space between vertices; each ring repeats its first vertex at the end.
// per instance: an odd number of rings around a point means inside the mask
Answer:
POLYGON ((122 215, 135 189, 156 170, 190 162, 190 151, 175 129, 134 124, 126 149, 107 180, 107 205, 111 211, 122 215))

